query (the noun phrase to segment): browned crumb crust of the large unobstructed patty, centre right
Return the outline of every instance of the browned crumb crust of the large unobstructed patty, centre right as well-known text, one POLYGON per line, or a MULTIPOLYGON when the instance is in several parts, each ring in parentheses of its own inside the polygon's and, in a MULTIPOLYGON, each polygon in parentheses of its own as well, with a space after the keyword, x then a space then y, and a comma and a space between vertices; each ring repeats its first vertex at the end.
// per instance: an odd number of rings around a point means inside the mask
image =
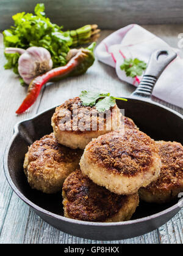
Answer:
POLYGON ((157 153, 154 140, 135 129, 124 129, 93 139, 87 145, 88 158, 110 173, 135 176, 149 170, 152 152, 157 153))

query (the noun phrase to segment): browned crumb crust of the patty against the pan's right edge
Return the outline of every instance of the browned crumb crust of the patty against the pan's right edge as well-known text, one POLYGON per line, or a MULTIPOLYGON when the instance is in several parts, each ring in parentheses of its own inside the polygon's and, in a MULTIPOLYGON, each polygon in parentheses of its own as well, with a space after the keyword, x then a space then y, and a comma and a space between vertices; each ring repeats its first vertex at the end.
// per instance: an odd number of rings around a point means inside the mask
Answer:
POLYGON ((147 187, 149 192, 183 186, 183 146, 178 142, 156 141, 162 161, 160 176, 147 187))

